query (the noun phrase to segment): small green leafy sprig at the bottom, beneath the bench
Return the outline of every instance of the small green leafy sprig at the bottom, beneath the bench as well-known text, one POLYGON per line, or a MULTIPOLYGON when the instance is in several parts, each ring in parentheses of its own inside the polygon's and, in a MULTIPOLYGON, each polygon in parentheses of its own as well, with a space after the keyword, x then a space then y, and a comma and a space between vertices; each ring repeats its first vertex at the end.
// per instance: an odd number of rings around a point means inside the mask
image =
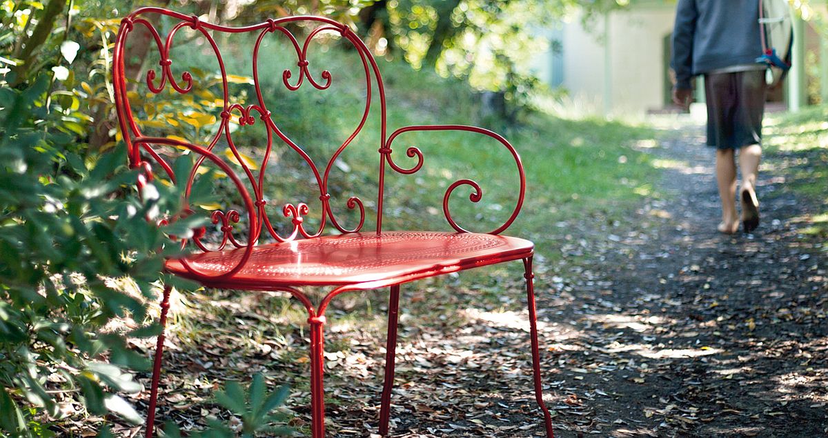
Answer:
MULTIPOLYGON (((294 436, 295 431, 287 426, 274 426, 274 423, 284 424, 290 416, 283 411, 277 411, 288 396, 288 387, 279 387, 275 392, 266 392, 264 377, 261 373, 253 376, 253 382, 245 393, 237 382, 228 382, 224 391, 215 393, 215 401, 229 410, 234 416, 241 419, 241 425, 236 431, 224 424, 209 419, 209 430, 190 433, 195 438, 233 438, 242 436, 250 438, 258 434, 266 436, 294 436)), ((181 438, 181 431, 174 424, 167 424, 164 428, 165 436, 181 438)))

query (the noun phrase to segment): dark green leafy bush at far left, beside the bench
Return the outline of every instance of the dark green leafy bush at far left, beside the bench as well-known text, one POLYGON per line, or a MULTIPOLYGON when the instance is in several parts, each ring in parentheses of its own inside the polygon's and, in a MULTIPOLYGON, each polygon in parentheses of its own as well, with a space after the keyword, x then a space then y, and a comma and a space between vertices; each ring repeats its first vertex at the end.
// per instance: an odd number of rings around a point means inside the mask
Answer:
POLYGON ((156 251, 165 238, 145 217, 181 209, 174 189, 144 203, 114 196, 137 177, 123 148, 79 154, 65 118, 46 113, 48 83, 0 90, 0 382, 11 391, 0 396, 0 430, 22 435, 37 435, 30 421, 42 414, 60 418, 75 392, 90 413, 140 420, 115 393, 139 392, 123 369, 148 366, 125 335, 157 332, 140 326, 145 299, 175 253, 156 251), (116 286, 127 277, 131 287, 116 286), (138 323, 131 332, 106 328, 126 317, 138 323))

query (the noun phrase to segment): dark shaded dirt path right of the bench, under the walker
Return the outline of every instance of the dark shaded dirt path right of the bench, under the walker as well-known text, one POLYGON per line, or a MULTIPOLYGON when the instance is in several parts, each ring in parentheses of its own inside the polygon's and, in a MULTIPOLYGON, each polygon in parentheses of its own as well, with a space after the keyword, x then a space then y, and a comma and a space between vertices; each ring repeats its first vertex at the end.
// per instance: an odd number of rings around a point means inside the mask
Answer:
POLYGON ((757 232, 716 233, 702 135, 688 128, 652 150, 667 167, 657 190, 673 201, 651 200, 625 232, 610 228, 603 261, 575 248, 590 276, 575 267, 561 298, 546 301, 547 320, 569 321, 546 333, 547 343, 564 338, 546 378, 556 398, 570 395, 553 403, 559 436, 828 434, 826 251, 799 233, 818 206, 784 190, 795 166, 777 166, 789 171, 758 180, 757 232))

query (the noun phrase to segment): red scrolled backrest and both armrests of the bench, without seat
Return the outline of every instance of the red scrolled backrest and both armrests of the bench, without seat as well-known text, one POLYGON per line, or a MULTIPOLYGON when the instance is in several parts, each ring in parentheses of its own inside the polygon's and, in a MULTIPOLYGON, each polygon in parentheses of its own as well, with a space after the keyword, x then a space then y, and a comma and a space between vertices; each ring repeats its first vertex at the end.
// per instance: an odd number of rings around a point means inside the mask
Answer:
MULTIPOLYGON (((151 43, 152 44, 152 43, 151 43)), ((474 128, 474 127, 464 127, 464 126, 419 126, 419 127, 407 127, 398 129, 395 132, 392 132, 391 135, 387 135, 387 112, 385 107, 385 91, 383 87, 383 82, 381 75, 378 70, 378 65, 376 60, 373 59, 373 55, 371 55, 368 47, 365 46, 363 41, 359 39, 359 36, 356 36, 353 31, 349 28, 349 26, 341 24, 339 22, 332 21, 330 19, 324 17, 285 17, 280 19, 270 19, 267 22, 262 22, 253 26, 243 26, 243 27, 229 27, 229 26, 219 26, 213 23, 201 21, 199 17, 195 16, 187 16, 185 14, 181 14, 178 12, 171 12, 165 9, 157 8, 157 7, 143 7, 138 9, 135 12, 132 12, 128 17, 123 19, 121 29, 118 31, 118 39, 116 41, 115 49, 113 55, 113 80, 115 84, 115 103, 116 108, 118 110, 118 122, 120 124, 121 132, 124 134, 124 140, 128 144, 129 156, 132 162, 132 166, 137 167, 144 167, 145 171, 142 172, 142 176, 140 176, 141 184, 147 184, 149 181, 152 180, 152 171, 151 166, 149 165, 149 161, 154 161, 158 166, 161 167, 161 170, 166 172, 169 179, 175 182, 175 175, 172 171, 171 165, 166 161, 165 157, 169 154, 167 152, 157 152, 154 147, 156 145, 167 145, 173 147, 183 147, 185 149, 190 150, 191 152, 196 152, 197 159, 195 162, 195 166, 190 172, 190 177, 186 181, 187 191, 186 194, 189 195, 189 190, 191 185, 193 184, 196 176, 198 175, 199 167, 202 166, 205 161, 210 161, 214 164, 214 166, 218 166, 219 169, 227 173, 231 180, 233 180, 233 185, 238 190, 238 193, 242 195, 243 204, 246 209, 248 209, 248 220, 246 221, 248 226, 247 236, 248 241, 246 243, 239 242, 235 236, 238 236, 238 233, 234 234, 233 230, 237 230, 240 228, 240 222, 242 222, 243 214, 239 213, 238 209, 226 209, 226 210, 215 210, 210 214, 210 219, 214 225, 219 227, 221 232, 220 234, 220 243, 217 246, 211 245, 208 246, 203 242, 205 238, 204 235, 200 235, 200 233, 195 233, 193 238, 190 238, 190 242, 194 243, 196 247, 200 248, 203 251, 220 251, 224 250, 228 247, 228 243, 232 245, 233 248, 242 249, 249 255, 250 251, 254 245, 258 243, 259 235, 262 230, 267 230, 267 234, 269 234, 272 238, 274 238, 277 242, 285 242, 295 238, 315 238, 320 236, 321 233, 324 232, 325 225, 330 223, 335 229, 339 230, 341 233, 354 233, 359 232, 363 229, 363 225, 366 221, 366 211, 365 205, 363 205, 363 201, 359 199, 357 196, 350 196, 345 203, 345 207, 350 210, 354 210, 359 212, 359 222, 356 224, 354 228, 348 228, 344 224, 340 223, 340 221, 336 218, 334 209, 332 209, 332 202, 331 196, 328 190, 328 182, 330 177, 330 172, 335 167, 334 163, 339 158, 339 156, 344 152, 346 147, 354 142, 354 138, 357 137, 359 132, 364 128, 366 122, 368 120, 368 113, 370 112, 372 102, 373 102, 373 94, 376 92, 378 93, 378 110, 379 110, 379 118, 380 118, 380 145, 379 145, 379 165, 380 165, 380 176, 379 176, 379 187, 378 187, 378 212, 377 212, 377 230, 382 230, 382 204, 383 204, 383 176, 384 176, 384 169, 385 166, 388 165, 392 169, 392 171, 396 171, 403 175, 412 175, 417 171, 421 170, 421 167, 425 163, 424 154, 418 147, 407 147, 406 149, 406 156, 408 158, 413 159, 413 163, 411 166, 401 166, 394 161, 393 158, 393 150, 392 150, 392 142, 394 139, 402 134, 403 132, 411 132, 411 131, 445 131, 450 129, 461 130, 461 131, 469 131, 469 132, 477 132, 480 134, 484 134, 489 137, 493 137, 499 142, 503 144, 504 147, 507 148, 508 152, 510 152, 516 163, 517 169, 520 174, 520 187, 518 190, 519 196, 517 200, 517 205, 513 210, 513 214, 508 218, 508 220, 498 227, 498 229, 494 229, 492 233, 500 233, 504 229, 508 228, 510 224, 512 224, 513 220, 517 216, 517 212, 519 211, 522 200, 523 194, 525 192, 525 176, 523 175, 522 164, 520 163, 519 156, 517 156, 517 152, 514 152, 513 147, 503 140, 503 137, 499 137, 497 134, 493 132, 489 132, 487 130, 481 128, 474 128), (160 14, 166 17, 171 18, 172 20, 177 20, 176 24, 174 24, 170 31, 166 33, 164 38, 161 37, 161 34, 156 31, 156 28, 153 26, 152 22, 147 20, 147 14, 160 14), (303 41, 299 41, 296 39, 291 31, 289 31, 286 27, 288 23, 297 23, 301 22, 302 24, 312 24, 315 27, 310 30, 307 36, 304 38, 303 41), (199 32, 201 36, 204 36, 205 40, 209 42, 209 46, 214 51, 215 59, 219 63, 219 70, 221 76, 221 86, 223 88, 223 99, 224 103, 221 109, 221 115, 219 118, 219 128, 216 130, 214 137, 212 140, 205 147, 195 146, 193 144, 187 142, 180 142, 178 140, 173 140, 171 138, 160 138, 160 137, 146 137, 142 134, 141 130, 138 128, 135 118, 132 114, 132 108, 128 103, 128 94, 127 94, 127 82, 126 79, 123 77, 123 70, 124 70, 124 57, 125 57, 125 41, 128 35, 134 31, 137 26, 142 26, 147 29, 147 31, 152 36, 152 41, 154 41, 155 46, 160 55, 160 62, 159 65, 155 68, 151 68, 147 70, 146 74, 146 84, 147 88, 154 94, 161 93, 169 84, 169 86, 176 90, 179 94, 187 94, 190 93, 196 84, 194 84, 195 80, 193 79, 193 75, 190 74, 189 71, 184 71, 181 74, 181 79, 176 80, 173 78, 171 65, 173 64, 173 60, 171 60, 171 50, 173 46, 173 41, 175 40, 176 33, 181 30, 183 27, 190 28, 196 32, 199 32), (256 99, 258 103, 242 105, 240 103, 231 103, 229 102, 229 89, 228 89, 228 75, 225 70, 224 60, 222 59, 222 55, 219 51, 219 46, 216 44, 213 38, 213 33, 219 32, 227 32, 227 33, 244 33, 244 32, 258 32, 258 40, 256 41, 256 45, 253 49, 253 86, 255 87, 256 99), (311 41, 314 41, 315 38, 319 37, 323 32, 334 32, 338 33, 339 37, 346 43, 351 44, 357 55, 359 55, 359 60, 363 65, 363 79, 365 81, 365 105, 363 109, 362 117, 359 119, 359 123, 357 124, 354 131, 350 133, 350 135, 339 145, 339 148, 329 157, 327 160, 324 168, 318 168, 315 165, 315 161, 313 161, 310 156, 299 147, 296 142, 293 142, 290 137, 286 135, 285 132, 277 126, 272 117, 272 113, 267 108, 267 103, 262 95, 262 90, 260 89, 259 79, 258 79, 258 59, 259 59, 259 51, 260 47, 262 46, 262 40, 267 35, 277 34, 287 38, 289 41, 289 46, 292 46, 295 53, 296 53, 296 70, 291 71, 291 69, 286 69, 282 71, 282 83, 286 86, 289 90, 297 90, 300 89, 302 84, 305 82, 309 82, 310 86, 314 87, 315 89, 325 90, 330 89, 330 86, 333 82, 333 75, 331 75, 329 70, 321 70, 319 73, 320 80, 316 80, 315 76, 311 74, 310 68, 310 61, 308 59, 309 48, 311 41), (295 79, 295 82, 292 80, 295 79), (375 91, 376 90, 376 91, 375 91), (235 142, 233 142, 233 135, 231 134, 230 123, 233 123, 233 114, 238 113, 238 124, 240 126, 249 126, 257 123, 256 118, 254 117, 254 113, 258 113, 258 118, 262 120, 262 122, 266 125, 267 131, 267 147, 264 149, 263 157, 261 161, 261 166, 258 172, 255 172, 255 168, 251 168, 246 163, 245 157, 238 151, 238 147, 236 146, 235 142), (226 142, 226 146, 229 149, 229 152, 233 154, 235 157, 235 161, 238 162, 238 165, 242 167, 243 170, 243 177, 246 176, 249 185, 247 183, 242 183, 242 180, 239 179, 238 176, 233 172, 233 169, 224 162, 222 159, 219 158, 214 152, 214 147, 216 147, 221 139, 224 139, 226 142), (291 233, 287 236, 279 235, 274 227, 271 224, 271 218, 268 217, 265 206, 268 203, 268 200, 265 200, 264 196, 264 188, 267 186, 266 181, 266 171, 267 171, 267 163, 270 159, 272 154, 273 148, 273 141, 274 139, 281 140, 290 150, 296 152, 301 159, 307 163, 310 167, 310 171, 313 173, 313 178, 315 180, 315 185, 319 189, 319 200, 320 200, 320 225, 319 229, 316 230, 307 230, 306 229, 306 217, 311 211, 311 208, 304 202, 296 202, 296 203, 288 203, 285 204, 282 208, 282 215, 290 219, 291 224, 291 233), (147 156, 145 159, 144 157, 147 156), (252 187, 252 191, 248 193, 247 186, 252 187)), ((318 70, 315 70, 318 71, 318 70)), ((339 80, 339 79, 338 79, 339 80)), ((182 181, 182 183, 184 183, 182 181)), ((445 217, 448 220, 451 227, 459 232, 465 232, 466 230, 460 227, 459 224, 455 222, 455 219, 452 219, 449 207, 449 201, 451 195, 455 193, 455 191, 461 186, 466 185, 472 189, 471 195, 469 195, 469 200, 473 203, 479 202, 482 198, 483 191, 481 190, 480 186, 474 182, 473 180, 457 180, 453 184, 451 184, 448 189, 445 191, 445 195, 443 198, 443 209, 445 213, 445 217)), ((315 208, 315 207, 314 207, 315 208)), ((275 219, 274 219, 275 220, 275 219)), ((283 219, 282 219, 283 220, 283 219)), ((248 257, 248 256, 245 256, 248 257)), ((246 260, 246 258, 244 258, 246 260)), ((224 272, 220 275, 222 276, 229 276, 233 275, 233 272, 237 272, 238 269, 243 265, 243 261, 238 264, 238 266, 229 269, 228 272, 224 272)), ((196 275, 205 275, 209 276, 204 272, 196 272, 195 268, 190 267, 185 263, 185 267, 193 272, 196 275)))

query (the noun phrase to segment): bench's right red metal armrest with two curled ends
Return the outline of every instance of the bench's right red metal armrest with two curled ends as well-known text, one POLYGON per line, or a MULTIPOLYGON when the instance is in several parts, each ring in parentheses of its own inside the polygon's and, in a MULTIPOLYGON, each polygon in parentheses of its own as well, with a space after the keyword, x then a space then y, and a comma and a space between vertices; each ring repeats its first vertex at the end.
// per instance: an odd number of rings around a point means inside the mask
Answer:
MULTIPOLYGON (((497 132, 492 132, 492 131, 489 131, 488 129, 478 128, 478 127, 474 127, 474 126, 467 126, 467 125, 414 125, 414 126, 407 126, 405 128, 399 128, 399 129, 397 129, 397 131, 392 132, 391 135, 388 136, 388 141, 385 142, 385 146, 382 149, 380 149, 380 152, 383 154, 385 160, 388 161, 388 166, 391 166, 391 168, 394 171, 397 171, 397 172, 402 173, 404 175, 411 175, 413 173, 416 173, 416 171, 419 171, 420 168, 423 165, 423 155, 422 155, 422 152, 420 151, 420 149, 418 149, 417 147, 408 147, 408 149, 406 151, 406 155, 411 157, 411 158, 414 158, 416 156, 417 162, 413 167, 406 169, 406 168, 402 168, 400 166, 397 166, 397 164, 393 161, 391 145, 394 142, 394 139, 396 139, 397 136, 399 136, 402 133, 405 133, 405 132, 427 132, 427 131, 465 131, 465 132, 474 132, 474 133, 482 134, 486 137, 491 137, 491 138, 497 140, 498 142, 500 142, 503 145, 503 147, 505 147, 508 150, 509 153, 512 154, 512 156, 514 158, 514 161, 515 161, 515 165, 517 166, 517 174, 520 178, 520 189, 517 192, 517 202, 516 202, 515 207, 512 211, 512 214, 509 215, 508 219, 503 224, 501 224, 498 228, 493 229, 492 231, 489 231, 489 234, 499 234, 499 233, 502 233, 503 231, 505 231, 506 229, 508 229, 508 227, 514 222, 515 218, 517 218, 517 214, 520 213, 520 209, 523 205, 523 198, 526 195, 526 174, 523 171, 523 164, 521 162, 520 156, 517 154, 517 151, 515 151, 515 148, 512 146, 512 144, 509 143, 505 138, 503 138, 503 136, 501 136, 497 132)), ((467 179, 456 180, 454 183, 449 185, 449 187, 445 190, 445 195, 443 195, 443 214, 445 215, 445 219, 451 225, 451 228, 455 229, 457 232, 460 232, 460 233, 469 233, 469 230, 460 227, 460 225, 458 225, 455 222, 455 219, 452 219, 451 212, 450 212, 450 209, 449 209, 449 198, 451 196, 451 193, 457 187, 459 187, 460 185, 470 185, 474 189, 472 194, 469 195, 469 200, 471 200, 472 202, 477 203, 477 202, 479 202, 479 200, 481 200, 483 198, 483 191, 480 189, 480 185, 477 182, 475 182, 474 180, 467 180, 467 179)))

